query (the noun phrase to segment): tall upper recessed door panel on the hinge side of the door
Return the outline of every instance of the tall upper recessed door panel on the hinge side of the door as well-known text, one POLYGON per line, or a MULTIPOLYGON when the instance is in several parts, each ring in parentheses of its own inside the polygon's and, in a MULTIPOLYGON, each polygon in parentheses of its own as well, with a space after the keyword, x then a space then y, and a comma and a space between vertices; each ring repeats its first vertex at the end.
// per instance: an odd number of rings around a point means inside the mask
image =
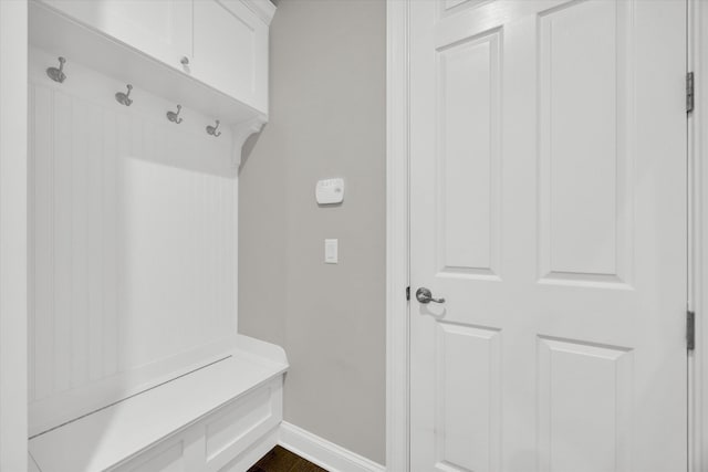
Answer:
POLYGON ((568 2, 539 13, 542 283, 632 289, 634 11, 632 0, 568 2), (571 56, 587 60, 552 66, 571 56), (593 86, 580 94, 586 76, 595 77, 593 86))

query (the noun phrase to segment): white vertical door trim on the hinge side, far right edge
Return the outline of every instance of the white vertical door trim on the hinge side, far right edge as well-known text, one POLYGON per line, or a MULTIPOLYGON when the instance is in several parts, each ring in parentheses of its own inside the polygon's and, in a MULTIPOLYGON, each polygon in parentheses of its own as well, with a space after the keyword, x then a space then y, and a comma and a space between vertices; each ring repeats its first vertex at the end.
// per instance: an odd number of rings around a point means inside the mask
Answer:
POLYGON ((708 379, 708 324, 702 323, 708 301, 708 166, 705 143, 708 129, 702 111, 708 109, 708 70, 702 54, 708 52, 708 8, 701 0, 688 1, 688 71, 695 73, 695 108, 688 120, 689 169, 689 293, 688 308, 696 313, 696 350, 688 357, 688 470, 702 471, 708 458, 708 405, 704 384, 708 379))

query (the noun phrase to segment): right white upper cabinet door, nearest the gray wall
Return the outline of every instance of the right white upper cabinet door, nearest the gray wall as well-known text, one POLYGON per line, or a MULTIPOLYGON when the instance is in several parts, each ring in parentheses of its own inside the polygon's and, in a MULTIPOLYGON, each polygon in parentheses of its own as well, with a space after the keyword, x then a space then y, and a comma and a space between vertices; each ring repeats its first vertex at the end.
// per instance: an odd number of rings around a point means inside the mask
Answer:
POLYGON ((268 111, 268 27, 240 0, 195 0, 196 78, 268 111))

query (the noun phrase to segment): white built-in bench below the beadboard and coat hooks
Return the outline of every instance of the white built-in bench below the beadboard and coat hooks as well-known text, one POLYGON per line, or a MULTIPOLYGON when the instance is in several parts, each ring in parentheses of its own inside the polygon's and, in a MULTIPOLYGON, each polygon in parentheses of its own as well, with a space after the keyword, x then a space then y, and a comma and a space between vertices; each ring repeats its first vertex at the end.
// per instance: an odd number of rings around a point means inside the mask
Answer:
POLYGON ((216 361, 30 440, 41 472, 244 471, 278 442, 283 350, 238 336, 216 361))

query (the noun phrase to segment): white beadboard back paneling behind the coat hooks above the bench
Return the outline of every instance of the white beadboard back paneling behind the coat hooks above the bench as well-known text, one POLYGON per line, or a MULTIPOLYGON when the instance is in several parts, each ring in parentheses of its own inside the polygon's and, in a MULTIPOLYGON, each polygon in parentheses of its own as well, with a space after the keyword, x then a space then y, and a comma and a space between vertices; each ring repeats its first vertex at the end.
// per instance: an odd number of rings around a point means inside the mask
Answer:
POLYGON ((31 400, 88 389, 114 401, 119 390, 96 385, 236 333, 231 135, 207 135, 215 117, 185 108, 169 123, 175 104, 140 90, 124 107, 125 84, 71 57, 56 84, 54 61, 32 50, 31 400))

